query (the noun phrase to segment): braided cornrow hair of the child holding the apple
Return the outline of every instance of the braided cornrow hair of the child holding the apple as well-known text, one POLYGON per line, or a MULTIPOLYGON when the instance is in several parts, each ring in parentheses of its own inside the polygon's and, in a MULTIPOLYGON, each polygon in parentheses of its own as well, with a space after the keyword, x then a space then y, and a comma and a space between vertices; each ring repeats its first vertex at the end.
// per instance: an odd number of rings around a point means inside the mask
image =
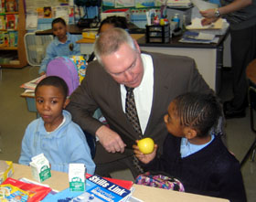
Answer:
POLYGON ((213 94, 188 92, 174 100, 180 124, 197 131, 198 137, 208 135, 223 116, 218 98, 213 94))

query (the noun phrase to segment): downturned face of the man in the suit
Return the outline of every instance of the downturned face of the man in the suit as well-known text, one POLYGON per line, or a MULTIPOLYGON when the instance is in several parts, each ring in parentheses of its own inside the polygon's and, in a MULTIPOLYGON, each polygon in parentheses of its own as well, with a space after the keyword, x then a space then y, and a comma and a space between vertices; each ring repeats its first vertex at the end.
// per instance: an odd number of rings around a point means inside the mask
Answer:
POLYGON ((135 88, 141 84, 144 76, 144 66, 139 46, 136 50, 124 43, 114 53, 102 56, 101 61, 106 71, 120 84, 135 88))

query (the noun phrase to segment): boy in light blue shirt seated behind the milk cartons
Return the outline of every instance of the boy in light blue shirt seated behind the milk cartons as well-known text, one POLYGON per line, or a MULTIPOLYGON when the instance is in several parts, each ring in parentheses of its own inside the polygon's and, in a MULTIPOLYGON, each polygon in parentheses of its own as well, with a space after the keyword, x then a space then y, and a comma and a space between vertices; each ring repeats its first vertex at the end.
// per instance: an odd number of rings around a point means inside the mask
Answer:
POLYGON ((71 121, 71 114, 63 110, 69 103, 67 95, 68 86, 59 77, 46 77, 37 84, 35 96, 40 118, 27 126, 18 163, 29 165, 33 156, 43 153, 52 170, 68 173, 70 163, 80 163, 93 175, 95 164, 84 133, 71 121))

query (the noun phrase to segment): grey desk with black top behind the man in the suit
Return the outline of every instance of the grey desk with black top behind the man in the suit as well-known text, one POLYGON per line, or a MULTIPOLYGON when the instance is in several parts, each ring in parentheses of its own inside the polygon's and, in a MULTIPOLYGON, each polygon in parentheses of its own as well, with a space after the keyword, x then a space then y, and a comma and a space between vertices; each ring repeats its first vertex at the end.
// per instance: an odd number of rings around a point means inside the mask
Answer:
MULTIPOLYGON (((133 34, 131 34, 133 37, 133 34)), ((169 55, 180 55, 194 58, 197 69, 208 83, 209 87, 219 92, 220 69, 223 63, 223 42, 226 35, 219 36, 217 44, 187 44, 180 43, 180 37, 171 38, 169 43, 146 43, 144 34, 136 35, 140 48, 148 52, 165 53, 169 55)), ((91 54, 93 51, 93 40, 80 39, 81 54, 91 54)))

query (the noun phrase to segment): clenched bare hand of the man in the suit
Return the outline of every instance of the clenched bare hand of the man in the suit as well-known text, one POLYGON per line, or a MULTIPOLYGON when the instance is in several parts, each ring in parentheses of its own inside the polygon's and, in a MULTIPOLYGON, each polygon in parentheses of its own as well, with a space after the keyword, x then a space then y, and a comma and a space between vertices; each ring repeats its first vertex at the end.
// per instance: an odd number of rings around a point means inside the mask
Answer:
POLYGON ((126 144, 123 143, 120 135, 110 128, 102 125, 97 131, 96 136, 99 138, 101 145, 109 153, 124 152, 126 144))

